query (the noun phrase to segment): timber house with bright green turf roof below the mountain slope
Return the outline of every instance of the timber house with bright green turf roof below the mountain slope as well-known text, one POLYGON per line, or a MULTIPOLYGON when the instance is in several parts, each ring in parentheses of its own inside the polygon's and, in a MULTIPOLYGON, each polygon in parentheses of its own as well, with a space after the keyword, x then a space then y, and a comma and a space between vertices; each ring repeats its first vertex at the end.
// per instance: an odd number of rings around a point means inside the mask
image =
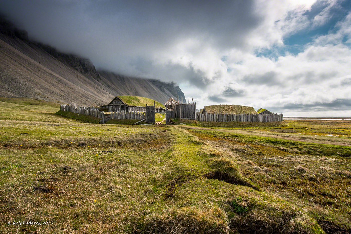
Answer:
POLYGON ((154 102, 155 112, 166 112, 166 107, 160 102, 138 96, 117 96, 107 105, 101 106, 100 110, 105 112, 145 112, 146 105, 153 106, 154 102))

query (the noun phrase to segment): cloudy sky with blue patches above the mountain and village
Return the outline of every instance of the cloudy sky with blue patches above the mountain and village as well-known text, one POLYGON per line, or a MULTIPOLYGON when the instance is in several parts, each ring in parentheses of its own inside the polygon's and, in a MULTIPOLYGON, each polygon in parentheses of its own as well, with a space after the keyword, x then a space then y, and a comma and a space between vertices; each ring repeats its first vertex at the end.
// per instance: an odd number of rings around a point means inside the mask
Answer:
POLYGON ((175 81, 197 108, 351 116, 350 0, 2 0, 29 38, 175 81))

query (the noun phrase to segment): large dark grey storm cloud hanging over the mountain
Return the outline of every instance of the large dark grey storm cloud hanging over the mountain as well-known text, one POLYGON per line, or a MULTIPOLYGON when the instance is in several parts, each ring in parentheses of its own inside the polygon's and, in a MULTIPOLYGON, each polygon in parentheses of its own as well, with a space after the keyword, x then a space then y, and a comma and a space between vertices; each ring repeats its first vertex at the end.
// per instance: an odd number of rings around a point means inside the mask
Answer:
MULTIPOLYGON (((147 60, 154 59, 152 53, 167 51, 187 38, 219 50, 243 45, 260 22, 252 8, 253 0, 0 2, 1 12, 30 37, 126 75, 143 75, 147 60)), ((151 75, 169 69, 149 65, 151 75)))

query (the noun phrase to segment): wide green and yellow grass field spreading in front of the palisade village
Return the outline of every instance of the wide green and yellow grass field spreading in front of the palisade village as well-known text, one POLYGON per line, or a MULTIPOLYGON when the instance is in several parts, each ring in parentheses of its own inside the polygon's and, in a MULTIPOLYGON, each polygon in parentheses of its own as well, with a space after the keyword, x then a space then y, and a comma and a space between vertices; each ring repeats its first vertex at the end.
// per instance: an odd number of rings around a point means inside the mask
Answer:
POLYGON ((0 233, 351 232, 349 147, 0 107, 0 233))

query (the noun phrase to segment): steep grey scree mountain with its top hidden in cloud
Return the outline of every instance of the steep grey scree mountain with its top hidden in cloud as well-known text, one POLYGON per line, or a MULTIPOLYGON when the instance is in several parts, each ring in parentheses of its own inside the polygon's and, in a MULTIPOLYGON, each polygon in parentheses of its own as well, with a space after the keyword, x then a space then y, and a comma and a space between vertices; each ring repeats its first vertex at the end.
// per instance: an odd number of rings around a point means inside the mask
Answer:
POLYGON ((24 30, 0 19, 0 96, 35 98, 100 106, 117 95, 134 95, 165 103, 185 102, 176 83, 97 71, 93 63, 74 54, 28 39, 24 30))

